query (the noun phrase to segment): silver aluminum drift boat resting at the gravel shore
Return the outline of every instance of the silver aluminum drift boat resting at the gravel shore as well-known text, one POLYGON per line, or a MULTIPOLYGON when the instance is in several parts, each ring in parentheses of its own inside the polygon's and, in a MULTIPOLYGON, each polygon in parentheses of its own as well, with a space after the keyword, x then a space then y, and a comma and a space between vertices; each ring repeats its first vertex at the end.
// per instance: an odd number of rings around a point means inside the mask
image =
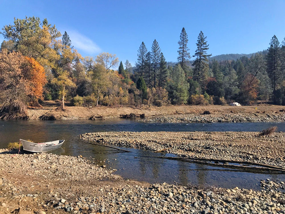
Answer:
POLYGON ((63 144, 64 140, 56 140, 45 143, 32 143, 27 140, 20 139, 20 143, 23 145, 23 149, 29 152, 50 152, 58 149, 63 144))

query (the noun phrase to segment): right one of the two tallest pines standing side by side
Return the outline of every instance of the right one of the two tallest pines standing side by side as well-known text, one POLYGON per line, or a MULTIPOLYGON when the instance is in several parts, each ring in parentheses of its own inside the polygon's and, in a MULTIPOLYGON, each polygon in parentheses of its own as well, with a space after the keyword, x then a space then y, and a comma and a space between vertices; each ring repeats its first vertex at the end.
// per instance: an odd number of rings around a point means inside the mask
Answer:
POLYGON ((207 77, 207 72, 209 70, 209 65, 207 64, 207 62, 209 61, 208 57, 212 56, 212 54, 207 54, 209 45, 207 45, 207 41, 205 41, 206 38, 207 37, 205 37, 203 32, 201 31, 199 33, 198 40, 196 43, 197 50, 195 51, 195 55, 193 55, 193 57, 196 56, 196 59, 193 63, 194 80, 198 81, 199 84, 201 84, 203 80, 205 80, 205 78, 207 77))

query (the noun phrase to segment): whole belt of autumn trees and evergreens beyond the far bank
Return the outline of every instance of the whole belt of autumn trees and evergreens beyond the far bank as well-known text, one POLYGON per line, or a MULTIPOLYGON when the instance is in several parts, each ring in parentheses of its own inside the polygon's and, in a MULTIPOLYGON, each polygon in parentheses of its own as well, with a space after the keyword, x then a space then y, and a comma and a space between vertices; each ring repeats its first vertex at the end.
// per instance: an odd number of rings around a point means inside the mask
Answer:
POLYGON ((154 39, 149 49, 141 43, 133 67, 106 52, 82 57, 68 33, 62 35, 47 19, 15 18, 1 34, 1 114, 24 114, 28 106, 57 99, 62 100, 59 110, 65 109, 66 100, 87 107, 233 101, 250 105, 257 100, 285 105, 285 39, 280 43, 275 35, 267 50, 212 57, 202 31, 197 49, 190 50, 182 28, 178 45, 172 44, 178 47, 177 62, 166 62, 154 39))

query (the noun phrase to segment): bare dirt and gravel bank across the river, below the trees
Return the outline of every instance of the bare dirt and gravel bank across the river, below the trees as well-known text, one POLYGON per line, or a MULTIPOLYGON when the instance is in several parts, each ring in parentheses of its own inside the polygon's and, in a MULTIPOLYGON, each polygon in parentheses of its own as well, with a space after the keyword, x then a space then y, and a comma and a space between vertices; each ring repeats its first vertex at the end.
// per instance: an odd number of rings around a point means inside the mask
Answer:
POLYGON ((29 108, 27 118, 32 120, 76 120, 105 119, 119 117, 146 117, 143 122, 280 122, 285 118, 284 106, 98 106, 92 108, 67 106, 65 111, 56 110, 54 105, 29 108), (201 115, 209 111, 209 115, 201 115), (192 119, 187 119, 187 117, 192 119), (158 119, 154 119, 157 118, 158 119), (161 119, 162 118, 162 119, 161 119), (166 118, 166 119, 164 119, 166 118), (186 119, 185 119, 186 118, 186 119), (203 119, 204 118, 204 119, 203 119))

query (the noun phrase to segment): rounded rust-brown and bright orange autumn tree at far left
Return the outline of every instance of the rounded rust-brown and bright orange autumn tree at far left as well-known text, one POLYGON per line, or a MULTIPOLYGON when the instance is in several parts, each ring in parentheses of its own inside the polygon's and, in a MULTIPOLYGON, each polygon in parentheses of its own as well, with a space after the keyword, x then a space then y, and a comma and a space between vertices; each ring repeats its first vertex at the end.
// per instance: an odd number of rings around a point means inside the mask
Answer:
POLYGON ((46 83, 44 68, 19 52, 0 52, 0 112, 25 113, 29 102, 38 103, 46 83))

